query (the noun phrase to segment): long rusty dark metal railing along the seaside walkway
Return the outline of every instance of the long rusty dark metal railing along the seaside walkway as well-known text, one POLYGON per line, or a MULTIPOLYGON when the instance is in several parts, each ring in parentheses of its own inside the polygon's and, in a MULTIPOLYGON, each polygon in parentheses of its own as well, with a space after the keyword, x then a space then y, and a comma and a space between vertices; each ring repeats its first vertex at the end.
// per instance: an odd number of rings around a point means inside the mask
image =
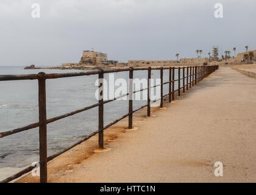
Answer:
MULTIPOLYGON (((64 152, 68 151, 74 146, 77 146, 78 144, 82 143, 85 140, 88 140, 89 138, 93 137, 97 133, 99 133, 99 148, 104 148, 104 129, 107 129, 110 126, 113 126, 113 124, 116 124, 116 122, 121 121, 121 119, 126 118, 129 116, 129 124, 128 128, 132 129, 132 118, 133 113, 137 112, 138 110, 141 110, 144 107, 148 107, 147 109, 147 116, 151 115, 151 107, 150 105, 153 102, 158 101, 154 100, 151 101, 149 89, 155 88, 160 86, 161 88, 161 98, 160 98, 160 107, 163 107, 163 98, 166 96, 169 96, 169 102, 174 100, 174 93, 178 93, 178 96, 180 96, 181 90, 183 90, 183 93, 185 93, 185 90, 188 88, 191 88, 191 86, 196 85, 198 82, 200 82, 204 77, 208 76, 209 74, 213 73, 218 69, 218 66, 186 66, 186 67, 148 67, 148 68, 125 68, 125 69, 108 69, 108 70, 102 70, 99 69, 97 71, 88 71, 88 72, 81 72, 81 73, 59 73, 59 74, 45 74, 45 73, 38 73, 38 74, 22 74, 22 75, 0 75, 0 81, 3 80, 38 80, 38 107, 39 107, 39 121, 35 122, 34 124, 29 124, 28 126, 24 126, 18 129, 8 130, 5 132, 0 133, 0 138, 7 137, 9 135, 13 135, 15 133, 23 132, 24 130, 34 129, 36 127, 39 127, 39 155, 40 155, 40 182, 45 183, 47 182, 47 162, 54 159, 55 157, 59 156, 60 154, 63 154, 64 152), (178 78, 175 79, 175 70, 178 70, 178 78), (187 76, 185 76, 185 69, 187 70, 187 76), (105 73, 118 73, 118 72, 124 72, 129 71, 129 80, 133 79, 133 71, 148 71, 148 88, 143 88, 141 90, 133 91, 133 86, 129 85, 129 93, 123 94, 119 97, 104 101, 103 98, 99 98, 99 102, 97 104, 90 105, 88 107, 84 107, 79 110, 75 110, 74 112, 66 113, 65 115, 60 115, 54 118, 46 118, 46 79, 58 79, 63 77, 77 77, 77 76, 89 76, 98 74, 99 79, 104 78, 105 73), (155 85, 153 87, 150 86, 149 79, 151 79, 151 71, 152 70, 160 70, 160 85, 155 85), (163 83, 163 71, 169 70, 169 81, 163 83), (180 71, 182 70, 183 77, 180 78, 180 71), (187 83, 185 83, 185 79, 187 78, 187 83), (183 86, 180 86, 180 81, 183 80, 183 86), (188 82, 188 80, 190 80, 188 82), (174 83, 178 82, 178 88, 177 90, 174 90, 174 83), (165 95, 163 95, 163 85, 169 84, 169 92, 165 95), (148 102, 146 105, 141 106, 140 108, 133 110, 133 100, 132 98, 129 98, 129 112, 126 115, 121 116, 121 118, 116 119, 115 121, 111 122, 110 124, 107 124, 107 126, 104 126, 104 104, 107 104, 108 102, 115 101, 116 99, 123 98, 124 96, 132 96, 134 93, 138 93, 140 91, 148 90, 148 102), (47 157, 47 124, 57 121, 59 119, 66 118, 68 116, 75 115, 80 112, 84 112, 85 110, 89 110, 91 108, 98 107, 99 109, 99 129, 96 132, 90 133, 90 135, 87 135, 83 140, 78 141, 77 143, 73 144, 72 146, 64 149, 63 151, 58 152, 57 154, 51 155, 47 157)), ((99 97, 102 96, 103 91, 103 83, 99 84, 99 97)), ((18 177, 23 176, 27 172, 32 171, 32 169, 35 168, 34 166, 29 166, 26 169, 23 169, 23 171, 20 171, 16 173, 13 176, 7 177, 6 179, 2 180, 1 182, 10 182, 14 179, 17 179, 18 177)))

